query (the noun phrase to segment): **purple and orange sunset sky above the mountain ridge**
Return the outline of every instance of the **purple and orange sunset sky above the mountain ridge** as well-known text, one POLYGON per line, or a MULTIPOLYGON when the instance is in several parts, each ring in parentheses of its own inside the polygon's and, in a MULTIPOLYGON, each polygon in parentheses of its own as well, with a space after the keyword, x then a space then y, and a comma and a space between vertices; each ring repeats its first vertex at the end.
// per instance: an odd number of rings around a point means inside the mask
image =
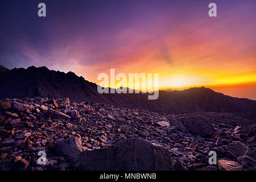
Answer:
POLYGON ((46 66, 100 83, 100 73, 159 73, 160 89, 205 86, 256 100, 256 1, 0 3, 0 64, 46 66), (46 17, 38 4, 46 4, 46 17), (217 5, 217 16, 208 5, 217 5))

